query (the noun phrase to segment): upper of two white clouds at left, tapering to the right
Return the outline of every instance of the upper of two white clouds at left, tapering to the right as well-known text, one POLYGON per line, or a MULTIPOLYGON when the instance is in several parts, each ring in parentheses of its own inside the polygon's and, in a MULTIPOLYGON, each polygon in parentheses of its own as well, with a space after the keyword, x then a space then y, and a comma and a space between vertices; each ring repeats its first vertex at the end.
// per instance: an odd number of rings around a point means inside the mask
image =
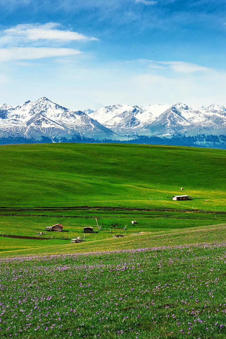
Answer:
POLYGON ((57 29, 61 27, 60 24, 55 22, 49 22, 44 25, 36 24, 19 24, 15 27, 5 29, 3 35, 0 38, 0 43, 11 43, 18 40, 20 42, 30 42, 39 40, 51 40, 51 41, 90 41, 98 40, 94 37, 87 37, 83 34, 57 29))

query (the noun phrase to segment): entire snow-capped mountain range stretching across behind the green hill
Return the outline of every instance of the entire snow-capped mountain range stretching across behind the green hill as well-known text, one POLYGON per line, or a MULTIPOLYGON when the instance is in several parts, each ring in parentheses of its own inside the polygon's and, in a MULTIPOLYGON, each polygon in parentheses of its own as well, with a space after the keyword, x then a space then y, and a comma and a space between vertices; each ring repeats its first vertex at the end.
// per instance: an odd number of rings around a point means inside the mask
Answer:
POLYGON ((112 105, 73 111, 43 97, 23 105, 0 106, 0 137, 26 136, 39 140, 75 135, 96 139, 125 139, 126 135, 226 134, 226 108, 212 104, 200 109, 173 106, 112 105))

